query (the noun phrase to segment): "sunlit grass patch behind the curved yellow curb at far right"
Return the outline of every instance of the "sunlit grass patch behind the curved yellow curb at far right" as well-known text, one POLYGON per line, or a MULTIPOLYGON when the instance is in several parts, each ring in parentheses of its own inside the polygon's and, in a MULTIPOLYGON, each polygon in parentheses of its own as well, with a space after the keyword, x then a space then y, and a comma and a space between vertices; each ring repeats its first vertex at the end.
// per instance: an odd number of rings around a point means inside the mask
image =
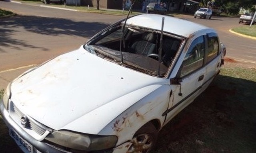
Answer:
POLYGON ((252 25, 251 27, 248 24, 244 24, 243 26, 235 27, 231 30, 234 32, 237 32, 237 33, 241 33, 243 35, 249 35, 252 37, 256 37, 256 25, 255 24, 252 25))

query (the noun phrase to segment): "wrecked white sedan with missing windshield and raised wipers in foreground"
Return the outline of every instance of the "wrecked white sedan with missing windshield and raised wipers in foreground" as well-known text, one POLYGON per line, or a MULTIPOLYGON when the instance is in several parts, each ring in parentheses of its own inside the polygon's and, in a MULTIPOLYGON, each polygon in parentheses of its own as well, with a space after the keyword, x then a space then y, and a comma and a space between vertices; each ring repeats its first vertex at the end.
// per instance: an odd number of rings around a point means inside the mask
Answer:
POLYGON ((218 75, 225 52, 209 27, 132 16, 14 79, 0 112, 25 153, 146 153, 218 75))

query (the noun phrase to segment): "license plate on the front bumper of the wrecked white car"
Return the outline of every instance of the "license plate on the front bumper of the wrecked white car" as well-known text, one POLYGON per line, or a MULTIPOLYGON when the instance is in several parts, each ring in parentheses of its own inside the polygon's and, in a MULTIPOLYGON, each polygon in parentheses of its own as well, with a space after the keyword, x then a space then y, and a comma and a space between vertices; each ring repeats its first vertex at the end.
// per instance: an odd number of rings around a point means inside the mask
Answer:
POLYGON ((10 136, 16 141, 19 147, 26 149, 28 153, 33 153, 33 146, 24 140, 14 129, 10 128, 10 136))

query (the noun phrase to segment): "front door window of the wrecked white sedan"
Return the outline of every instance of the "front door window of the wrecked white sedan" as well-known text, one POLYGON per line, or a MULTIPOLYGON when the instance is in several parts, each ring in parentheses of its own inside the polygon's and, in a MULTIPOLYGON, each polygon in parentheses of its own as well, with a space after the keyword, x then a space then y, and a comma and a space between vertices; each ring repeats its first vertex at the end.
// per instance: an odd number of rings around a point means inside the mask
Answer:
POLYGON ((180 77, 200 69, 204 63, 204 36, 196 38, 190 45, 185 59, 182 62, 180 77))

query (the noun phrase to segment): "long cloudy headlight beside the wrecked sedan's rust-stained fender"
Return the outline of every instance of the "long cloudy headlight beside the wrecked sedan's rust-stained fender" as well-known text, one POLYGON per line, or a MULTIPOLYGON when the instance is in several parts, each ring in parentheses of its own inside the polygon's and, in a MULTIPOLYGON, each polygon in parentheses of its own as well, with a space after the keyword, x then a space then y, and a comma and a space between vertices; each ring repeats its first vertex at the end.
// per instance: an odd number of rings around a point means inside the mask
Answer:
POLYGON ((77 150, 103 150, 114 147, 118 138, 114 135, 89 135, 60 130, 54 131, 45 139, 58 145, 77 150))

